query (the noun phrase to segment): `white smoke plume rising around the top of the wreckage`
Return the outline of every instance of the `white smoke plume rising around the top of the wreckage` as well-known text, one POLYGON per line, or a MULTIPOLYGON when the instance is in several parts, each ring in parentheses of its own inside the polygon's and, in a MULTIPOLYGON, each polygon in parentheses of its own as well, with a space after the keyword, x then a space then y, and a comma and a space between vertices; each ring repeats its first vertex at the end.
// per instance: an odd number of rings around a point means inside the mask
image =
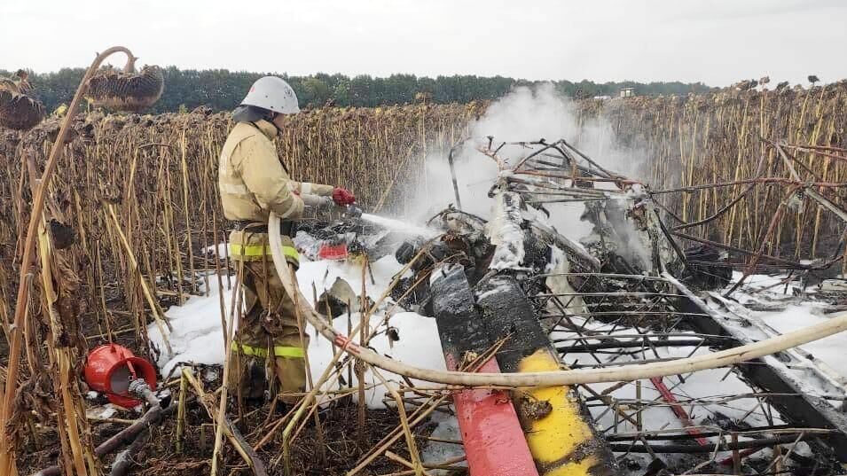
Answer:
MULTIPOLYGON (((608 100, 606 106, 615 102, 616 99, 608 100)), ((645 155, 618 144, 611 125, 601 116, 580 118, 576 105, 556 92, 552 83, 514 89, 492 103, 469 129, 471 138, 454 156, 459 197, 463 210, 486 218, 494 203, 488 191, 498 175, 494 160, 477 151, 478 146, 488 143, 488 137, 493 137, 495 144, 564 138, 604 168, 626 176, 635 176, 645 155)), ((500 155, 514 164, 529 152, 532 151, 507 146, 500 155)), ((445 156, 427 157, 425 182, 427 186, 420 190, 419 202, 424 206, 417 211, 419 216, 432 215, 456 203, 445 156)), ((580 220, 584 212, 581 203, 550 204, 547 209, 551 213, 550 224, 568 238, 578 240, 591 231, 591 224, 580 220)))

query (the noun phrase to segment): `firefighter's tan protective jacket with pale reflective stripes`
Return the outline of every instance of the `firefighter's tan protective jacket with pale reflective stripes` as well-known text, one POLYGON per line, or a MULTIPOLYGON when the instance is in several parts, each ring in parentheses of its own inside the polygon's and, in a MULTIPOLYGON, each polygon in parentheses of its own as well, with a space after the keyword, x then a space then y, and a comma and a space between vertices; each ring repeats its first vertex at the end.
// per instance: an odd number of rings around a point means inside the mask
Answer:
MULTIPOLYGON (((271 211, 280 218, 293 220, 303 212, 298 194, 330 196, 334 187, 291 180, 277 156, 273 139, 277 128, 269 121, 239 122, 232 128, 221 151, 218 188, 221 205, 228 220, 268 222, 271 211)), ((235 260, 261 261, 270 254, 266 233, 232 230, 230 254, 235 260)), ((283 240, 286 254, 296 260, 290 238, 283 240)))

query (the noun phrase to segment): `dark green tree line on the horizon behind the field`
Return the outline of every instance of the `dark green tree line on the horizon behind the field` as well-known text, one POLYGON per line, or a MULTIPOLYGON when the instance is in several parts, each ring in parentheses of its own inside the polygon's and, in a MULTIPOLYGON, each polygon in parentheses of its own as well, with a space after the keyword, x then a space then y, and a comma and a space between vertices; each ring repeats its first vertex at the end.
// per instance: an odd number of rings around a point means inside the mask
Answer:
MULTIPOLYGON (((231 110, 244 98, 247 89, 265 73, 229 71, 226 69, 164 68, 165 90, 151 113, 192 110, 205 105, 215 111, 231 110)), ((82 79, 82 68, 62 68, 52 73, 30 73, 35 94, 48 111, 73 98, 82 79)), ((11 72, 0 70, 0 76, 11 72)), ((369 74, 280 74, 291 84, 303 108, 321 105, 366 106, 401 105, 420 101, 434 103, 469 103, 496 99, 516 86, 533 86, 537 81, 504 76, 452 75, 430 78, 414 74, 392 74, 374 77, 369 74)), ((571 98, 617 96, 622 88, 633 88, 636 95, 686 94, 710 88, 700 82, 581 82, 556 81, 554 87, 571 98)))

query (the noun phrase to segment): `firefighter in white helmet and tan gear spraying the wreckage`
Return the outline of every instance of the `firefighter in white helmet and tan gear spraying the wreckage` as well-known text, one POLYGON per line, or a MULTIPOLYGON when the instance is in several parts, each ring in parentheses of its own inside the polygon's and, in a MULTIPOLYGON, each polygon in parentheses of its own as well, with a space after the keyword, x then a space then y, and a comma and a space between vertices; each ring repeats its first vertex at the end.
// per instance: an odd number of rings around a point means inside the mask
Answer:
POLYGON ((218 188, 224 216, 233 222, 230 257, 241 269, 245 313, 232 341, 228 385, 247 400, 281 391, 283 402, 296 402, 306 385, 294 301, 279 280, 268 242, 268 215, 282 220, 283 252, 298 266, 291 240, 294 220, 304 207, 318 212, 353 204, 348 190, 317 183, 294 182, 277 156, 274 138, 286 114, 299 113, 297 97, 285 81, 265 76, 256 81, 232 113, 235 126, 224 143, 218 188))

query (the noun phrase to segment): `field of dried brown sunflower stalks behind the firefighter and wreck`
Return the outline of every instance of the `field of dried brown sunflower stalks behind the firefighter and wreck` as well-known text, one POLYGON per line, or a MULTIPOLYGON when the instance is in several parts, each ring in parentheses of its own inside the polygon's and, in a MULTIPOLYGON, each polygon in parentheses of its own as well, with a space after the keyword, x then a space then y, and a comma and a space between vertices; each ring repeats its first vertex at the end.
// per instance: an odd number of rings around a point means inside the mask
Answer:
MULTIPOLYGON (((409 191, 427 176, 426 160, 445 159, 486 107, 319 108, 288 119, 278 151, 294 179, 344 184, 366 209, 402 214, 413 205, 409 191)), ((678 232, 743 249, 763 247, 767 254, 792 259, 843 253, 834 215, 812 200, 795 205, 783 192, 791 184, 784 177, 796 169, 797 181, 820 184, 821 193, 845 205, 847 83, 584 99, 573 109, 582 124, 608 124, 616 147, 639 156, 638 178, 655 193, 671 217, 668 222, 691 225, 678 232), (772 143, 784 144, 788 156, 781 157, 772 143), (788 203, 784 212, 783 203, 788 203), (771 233, 778 210, 788 219, 771 233)), ((23 132, 0 129, 4 356, 29 203, 38 187, 33 177, 43 169, 60 121, 49 117, 23 132)), ((62 289, 59 314, 67 306, 82 316, 79 328, 61 329, 63 346, 82 353, 86 339, 127 335, 134 350, 145 354, 147 324, 167 325, 165 308, 208 289, 203 280, 214 273, 201 271, 227 265, 215 251, 229 228, 217 193, 217 161, 231 125, 228 113, 204 108, 154 116, 94 110, 75 119, 46 202, 55 246, 65 249, 53 263, 59 269, 54 276, 67 279, 57 286, 62 289)), ((32 284, 25 339, 33 345, 27 349, 39 348, 48 335, 50 324, 39 311, 44 286, 32 284)), ((27 351, 20 383, 47 388, 31 378, 43 368, 42 358, 27 351)), ((30 402, 30 409, 35 407, 30 402)), ((13 415, 10 424, 23 432, 33 418, 28 412, 13 415)))

